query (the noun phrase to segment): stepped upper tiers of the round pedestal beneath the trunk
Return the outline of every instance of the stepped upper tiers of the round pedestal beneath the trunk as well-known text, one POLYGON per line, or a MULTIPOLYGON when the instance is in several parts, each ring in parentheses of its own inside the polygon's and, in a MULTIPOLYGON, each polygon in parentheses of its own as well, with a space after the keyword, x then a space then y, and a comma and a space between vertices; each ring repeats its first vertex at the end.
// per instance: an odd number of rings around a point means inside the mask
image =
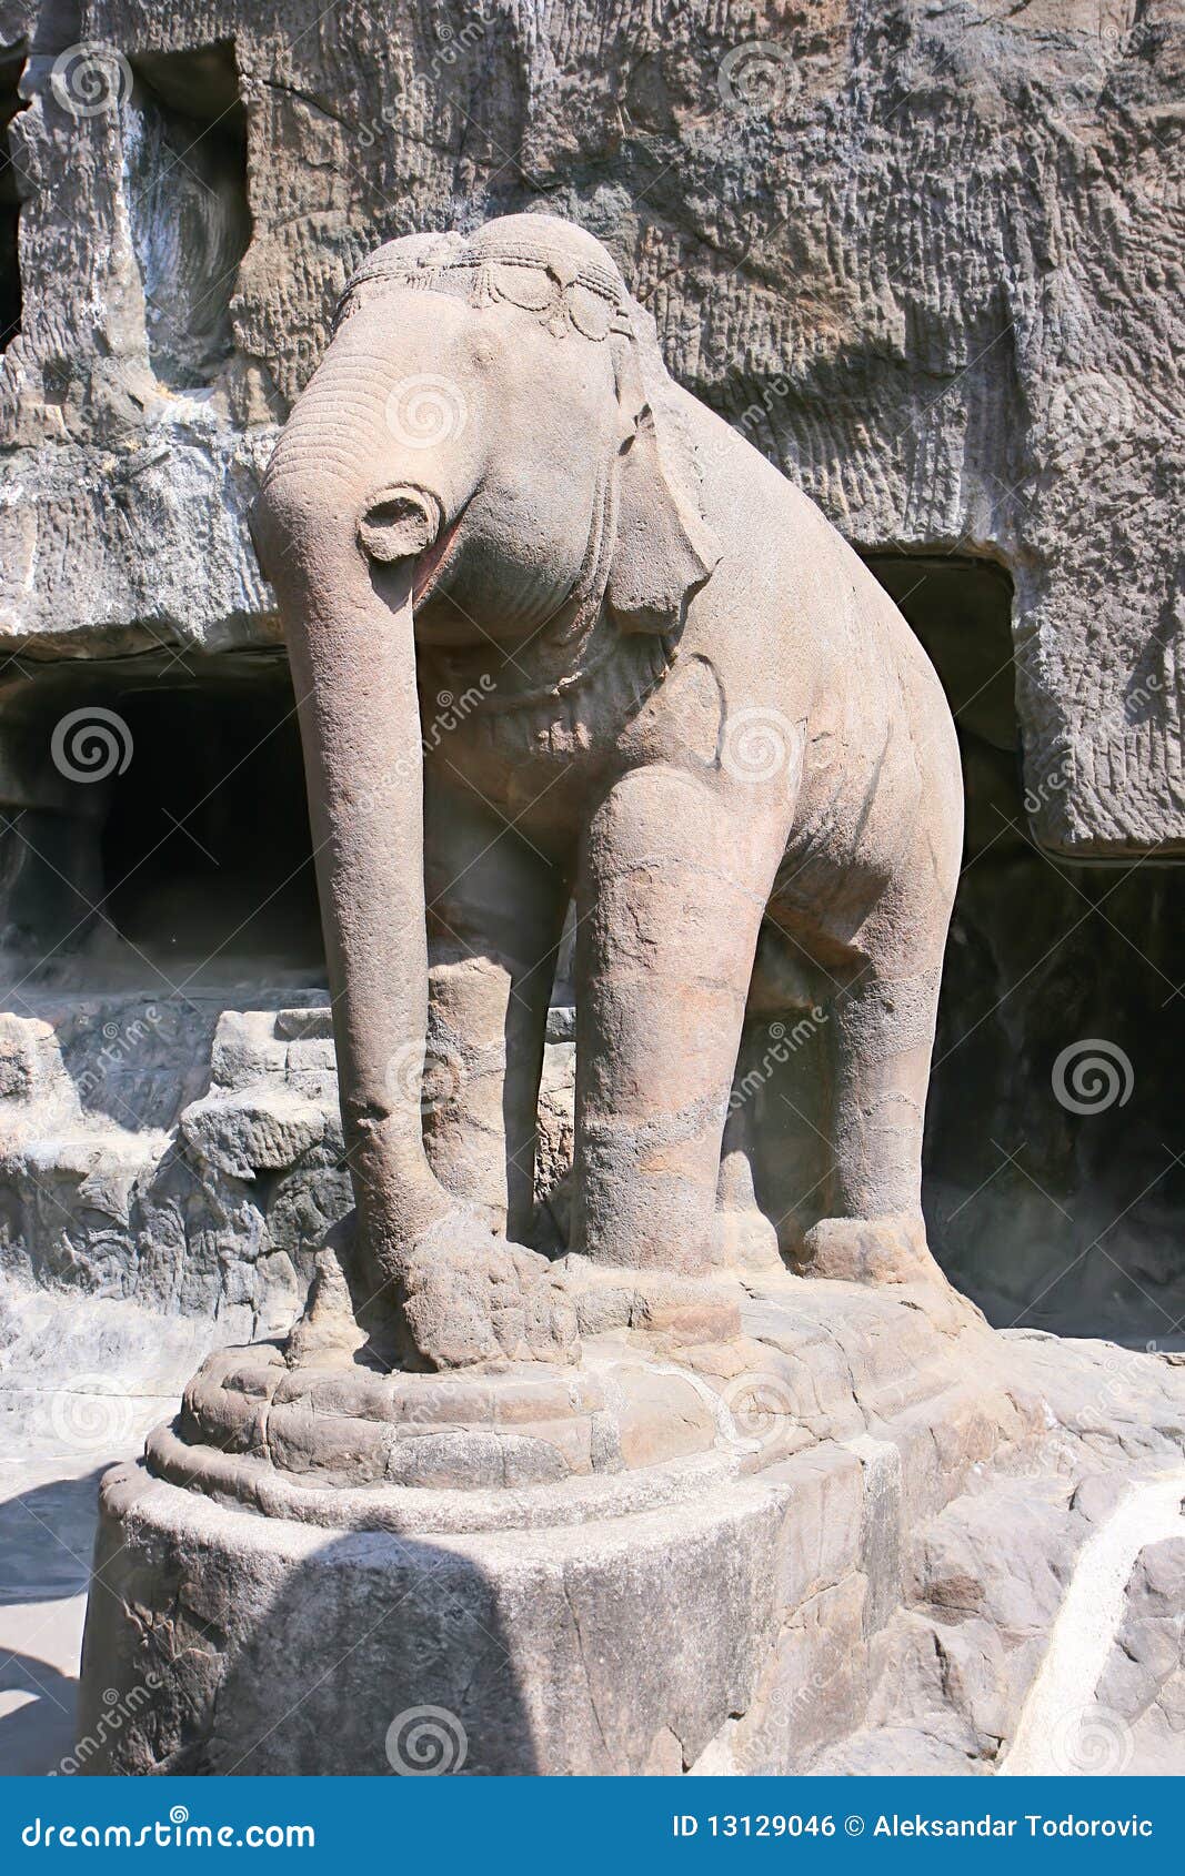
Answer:
POLYGON ((267 1516, 404 1529, 449 1510, 451 1527, 488 1527, 492 1510, 473 1495, 654 1473, 712 1454, 721 1430, 699 1377, 622 1351, 580 1368, 409 1375, 347 1354, 289 1368, 278 1343, 259 1343, 205 1362, 177 1424, 150 1435, 146 1463, 267 1516))

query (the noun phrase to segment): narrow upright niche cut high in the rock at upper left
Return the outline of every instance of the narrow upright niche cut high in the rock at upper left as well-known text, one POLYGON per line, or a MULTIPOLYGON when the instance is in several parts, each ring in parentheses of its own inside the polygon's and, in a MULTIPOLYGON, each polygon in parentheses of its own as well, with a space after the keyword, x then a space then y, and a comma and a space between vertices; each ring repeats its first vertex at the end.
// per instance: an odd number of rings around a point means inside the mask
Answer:
POLYGON ((252 238, 235 47, 137 54, 133 69, 128 204, 148 353, 162 383, 195 390, 231 356, 231 300, 252 238))

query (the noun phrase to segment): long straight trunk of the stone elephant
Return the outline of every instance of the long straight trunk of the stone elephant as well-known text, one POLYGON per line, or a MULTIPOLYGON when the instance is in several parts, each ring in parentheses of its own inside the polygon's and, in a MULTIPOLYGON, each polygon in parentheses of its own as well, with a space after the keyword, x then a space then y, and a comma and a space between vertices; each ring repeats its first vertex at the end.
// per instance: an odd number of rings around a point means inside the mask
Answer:
POLYGON ((289 647, 359 1251, 376 1289, 449 1210, 421 1129, 428 1021, 415 561, 376 587, 357 484, 289 424, 252 516, 289 647), (364 531, 362 531, 364 533, 364 531))

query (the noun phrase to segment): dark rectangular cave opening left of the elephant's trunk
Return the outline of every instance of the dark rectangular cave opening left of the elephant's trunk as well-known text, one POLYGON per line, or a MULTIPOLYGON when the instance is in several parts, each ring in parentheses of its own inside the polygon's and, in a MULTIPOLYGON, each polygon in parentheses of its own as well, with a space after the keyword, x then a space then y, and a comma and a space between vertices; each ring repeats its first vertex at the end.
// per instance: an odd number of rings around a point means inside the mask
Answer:
POLYGON ((4 711, 9 974, 38 989, 325 976, 287 666, 54 666, 4 711))

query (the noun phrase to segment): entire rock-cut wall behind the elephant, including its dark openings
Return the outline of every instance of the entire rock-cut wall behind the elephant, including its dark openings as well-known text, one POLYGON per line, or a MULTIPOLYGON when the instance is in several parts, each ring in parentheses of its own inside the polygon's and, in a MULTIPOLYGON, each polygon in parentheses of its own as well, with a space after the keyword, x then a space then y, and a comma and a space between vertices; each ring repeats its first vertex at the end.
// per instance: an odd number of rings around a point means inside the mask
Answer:
POLYGON ((1183 71, 1176 0, 0 0, 11 1294, 299 1308, 347 1193, 244 514, 359 257, 545 206, 956 707, 939 1255, 997 1321, 1179 1332, 1183 71))

